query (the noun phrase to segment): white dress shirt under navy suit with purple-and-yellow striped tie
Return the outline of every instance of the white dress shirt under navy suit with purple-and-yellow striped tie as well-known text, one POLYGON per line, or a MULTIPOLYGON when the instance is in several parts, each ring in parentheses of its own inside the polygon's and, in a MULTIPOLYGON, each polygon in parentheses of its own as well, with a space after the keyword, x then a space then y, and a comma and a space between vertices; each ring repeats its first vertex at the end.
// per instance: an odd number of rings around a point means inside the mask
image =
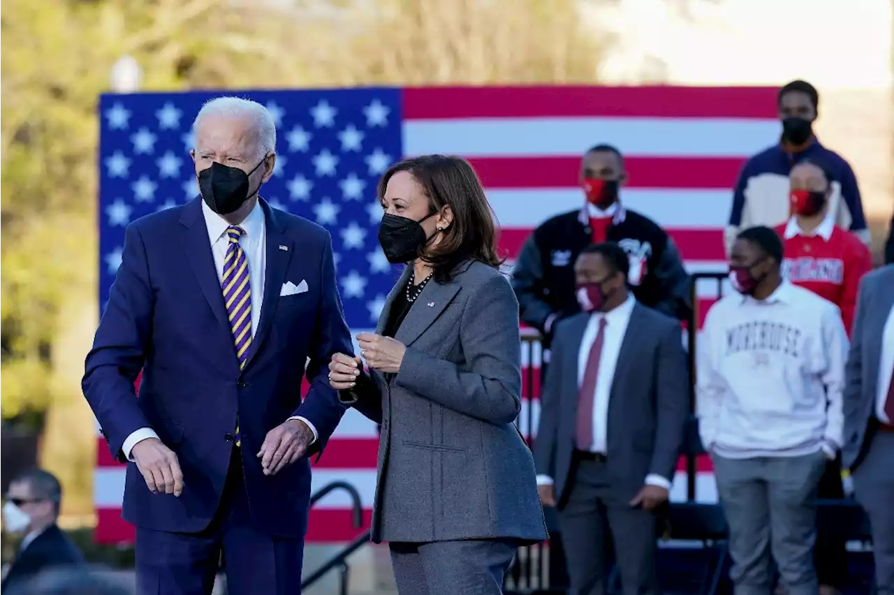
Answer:
MULTIPOLYGON (((202 215, 205 217, 205 227, 208 230, 208 241, 211 243, 211 253, 215 259, 215 268, 217 269, 217 279, 223 284, 223 261, 226 258, 227 248, 230 246, 230 239, 226 230, 230 227, 227 222, 219 214, 211 210, 208 205, 202 201, 202 215)), ((257 324, 261 320, 261 308, 264 306, 264 282, 267 269, 267 226, 264 217, 264 209, 261 208, 260 202, 255 204, 255 208, 239 224, 242 228, 242 235, 239 243, 242 252, 249 261, 249 284, 251 287, 251 338, 255 338, 257 332, 257 324)), ((314 434, 314 441, 319 440, 319 434, 313 423, 307 419, 294 416, 289 419, 299 419, 308 424, 308 428, 314 434)), ((122 451, 124 457, 132 461, 131 450, 137 442, 148 438, 158 438, 155 430, 152 428, 139 428, 132 432, 130 436, 124 440, 122 451)))

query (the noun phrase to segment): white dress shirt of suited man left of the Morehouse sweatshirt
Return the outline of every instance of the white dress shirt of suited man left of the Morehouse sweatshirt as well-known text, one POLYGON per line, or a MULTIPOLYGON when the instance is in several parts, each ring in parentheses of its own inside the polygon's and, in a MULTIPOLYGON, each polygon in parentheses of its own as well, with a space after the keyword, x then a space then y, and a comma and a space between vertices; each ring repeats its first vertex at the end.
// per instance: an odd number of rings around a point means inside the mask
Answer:
MULTIPOLYGON (((633 313, 633 306, 637 304, 637 300, 631 295, 620 306, 615 307, 609 312, 595 312, 590 314, 590 318, 586 323, 584 337, 580 341, 578 350, 578 389, 584 383, 584 373, 586 373, 586 363, 590 358, 590 349, 596 340, 596 334, 599 332, 599 322, 605 319, 605 330, 603 331, 603 350, 599 356, 599 373, 596 376, 596 388, 593 400, 593 441, 590 450, 600 455, 608 454, 608 421, 609 421, 609 399, 611 398, 611 384, 614 381, 615 367, 618 365, 618 356, 620 355, 620 345, 627 333, 628 323, 630 323, 630 314, 633 313)), ((661 475, 650 473, 645 477, 645 482, 660 486, 666 490, 671 489, 671 480, 661 475)), ((550 484, 552 478, 548 475, 538 475, 538 484, 550 484)))

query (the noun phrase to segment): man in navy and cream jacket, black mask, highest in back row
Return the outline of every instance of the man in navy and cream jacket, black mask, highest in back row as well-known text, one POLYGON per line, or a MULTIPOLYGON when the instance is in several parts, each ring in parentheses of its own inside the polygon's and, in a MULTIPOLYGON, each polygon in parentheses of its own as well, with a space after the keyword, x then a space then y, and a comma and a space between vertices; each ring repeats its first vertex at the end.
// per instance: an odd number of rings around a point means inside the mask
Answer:
POLYGON ((774 227, 789 219, 789 173, 805 159, 822 163, 831 175, 829 213, 835 224, 851 230, 868 245, 869 230, 854 170, 841 155, 823 147, 814 134, 819 93, 810 83, 793 80, 780 88, 777 97, 782 136, 778 143, 748 159, 739 173, 724 233, 727 254, 739 230, 752 225, 774 227))

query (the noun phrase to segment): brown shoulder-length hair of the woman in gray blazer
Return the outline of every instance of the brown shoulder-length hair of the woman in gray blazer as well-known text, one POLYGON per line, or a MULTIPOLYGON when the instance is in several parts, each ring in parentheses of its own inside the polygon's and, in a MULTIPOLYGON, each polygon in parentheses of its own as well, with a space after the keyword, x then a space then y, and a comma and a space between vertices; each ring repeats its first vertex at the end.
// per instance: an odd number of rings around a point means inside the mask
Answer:
POLYGON ((421 155, 394 163, 379 180, 378 198, 383 200, 388 180, 397 172, 409 172, 428 197, 430 213, 449 206, 453 214, 442 241, 419 248, 419 258, 434 269, 434 280, 450 281, 456 268, 469 260, 499 268, 497 232, 491 205, 472 165, 453 155, 421 155))

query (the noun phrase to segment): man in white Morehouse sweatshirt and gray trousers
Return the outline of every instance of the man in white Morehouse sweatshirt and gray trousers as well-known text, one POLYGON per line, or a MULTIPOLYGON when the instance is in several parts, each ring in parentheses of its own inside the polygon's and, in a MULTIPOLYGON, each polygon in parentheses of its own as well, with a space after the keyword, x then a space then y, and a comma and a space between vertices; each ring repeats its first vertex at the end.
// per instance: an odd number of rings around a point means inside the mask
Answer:
POLYGON ((768 227, 738 234, 737 292, 714 304, 697 343, 699 432, 736 595, 770 595, 773 559, 789 595, 816 595, 816 488, 842 443, 844 324, 837 306, 781 279, 782 250, 768 227))

